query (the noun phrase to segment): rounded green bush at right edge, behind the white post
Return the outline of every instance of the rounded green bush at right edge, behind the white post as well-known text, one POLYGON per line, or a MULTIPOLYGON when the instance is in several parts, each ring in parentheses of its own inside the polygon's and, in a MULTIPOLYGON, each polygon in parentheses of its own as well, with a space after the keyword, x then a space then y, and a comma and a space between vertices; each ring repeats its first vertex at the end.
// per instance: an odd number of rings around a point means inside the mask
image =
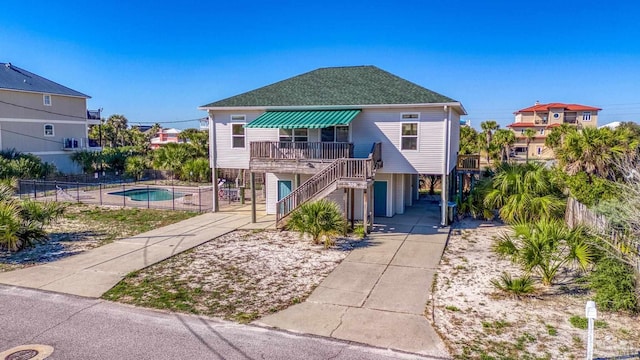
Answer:
POLYGON ((631 266, 612 257, 604 257, 588 277, 595 292, 594 301, 603 310, 638 312, 636 280, 631 266))

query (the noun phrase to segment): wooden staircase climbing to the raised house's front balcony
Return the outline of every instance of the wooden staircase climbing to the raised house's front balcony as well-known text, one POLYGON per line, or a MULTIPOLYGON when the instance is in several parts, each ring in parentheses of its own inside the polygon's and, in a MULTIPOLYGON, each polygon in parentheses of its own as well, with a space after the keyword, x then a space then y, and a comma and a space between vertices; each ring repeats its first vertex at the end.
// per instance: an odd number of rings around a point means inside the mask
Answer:
POLYGON ((366 188, 382 167, 381 143, 373 144, 369 156, 364 159, 340 158, 302 183, 276 204, 276 226, 298 206, 324 198, 339 188, 366 188))

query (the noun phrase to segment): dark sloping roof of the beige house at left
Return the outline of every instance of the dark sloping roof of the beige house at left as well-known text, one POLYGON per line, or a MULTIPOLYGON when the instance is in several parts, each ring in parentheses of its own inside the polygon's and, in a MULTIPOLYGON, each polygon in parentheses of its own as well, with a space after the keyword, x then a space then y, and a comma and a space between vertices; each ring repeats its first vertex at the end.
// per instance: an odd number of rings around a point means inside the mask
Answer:
POLYGON ((0 63, 0 89, 90 98, 88 95, 69 89, 10 63, 0 63))

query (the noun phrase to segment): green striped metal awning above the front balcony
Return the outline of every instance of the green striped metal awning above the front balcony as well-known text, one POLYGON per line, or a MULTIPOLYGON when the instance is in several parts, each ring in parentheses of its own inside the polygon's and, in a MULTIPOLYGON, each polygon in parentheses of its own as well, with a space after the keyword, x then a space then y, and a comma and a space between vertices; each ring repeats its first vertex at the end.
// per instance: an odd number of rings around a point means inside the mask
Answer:
POLYGON ((360 111, 361 110, 267 111, 245 125, 245 127, 321 129, 329 126, 348 125, 360 111))

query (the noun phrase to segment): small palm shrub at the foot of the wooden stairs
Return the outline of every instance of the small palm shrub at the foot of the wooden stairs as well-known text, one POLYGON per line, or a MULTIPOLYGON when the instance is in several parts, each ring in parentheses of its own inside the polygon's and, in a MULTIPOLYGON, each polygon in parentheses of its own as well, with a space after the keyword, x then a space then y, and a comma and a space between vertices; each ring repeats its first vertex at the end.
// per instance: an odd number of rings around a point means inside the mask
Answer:
POLYGON ((302 204, 293 213, 287 228, 303 234, 309 234, 314 244, 320 244, 324 238, 325 248, 333 245, 333 237, 344 233, 346 223, 338 204, 321 199, 302 204))

